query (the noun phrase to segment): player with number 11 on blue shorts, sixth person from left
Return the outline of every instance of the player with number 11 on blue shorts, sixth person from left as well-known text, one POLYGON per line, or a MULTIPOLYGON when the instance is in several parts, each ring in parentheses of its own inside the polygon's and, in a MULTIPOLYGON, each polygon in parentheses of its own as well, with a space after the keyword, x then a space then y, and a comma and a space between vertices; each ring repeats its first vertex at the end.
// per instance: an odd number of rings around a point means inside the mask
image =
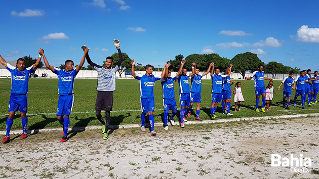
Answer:
POLYGON ((179 104, 181 106, 181 110, 180 110, 180 118, 181 118, 181 122, 180 122, 180 126, 182 128, 185 127, 184 125, 184 121, 187 122, 187 120, 185 119, 185 114, 187 112, 187 108, 188 106, 190 106, 190 97, 189 97, 189 81, 188 81, 188 75, 187 75, 187 69, 183 68, 184 64, 186 63, 186 60, 182 60, 181 62, 181 66, 179 67, 179 70, 176 74, 177 76, 177 80, 178 80, 178 84, 179 84, 179 104))

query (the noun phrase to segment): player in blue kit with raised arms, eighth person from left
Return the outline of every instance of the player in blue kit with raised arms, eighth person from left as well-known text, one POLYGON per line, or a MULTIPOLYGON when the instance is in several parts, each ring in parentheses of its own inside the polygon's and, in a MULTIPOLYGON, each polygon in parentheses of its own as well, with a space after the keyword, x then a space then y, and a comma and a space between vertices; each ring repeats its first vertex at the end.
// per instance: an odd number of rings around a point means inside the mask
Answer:
POLYGON ((212 70, 211 70, 211 76, 212 76, 212 106, 211 106, 211 119, 216 118, 217 116, 215 115, 216 109, 217 109, 217 104, 220 103, 221 100, 221 93, 222 93, 222 83, 223 83, 223 78, 226 78, 230 76, 231 73, 231 68, 232 64, 229 65, 229 70, 228 73, 225 74, 219 74, 219 68, 215 68, 215 74, 214 74, 214 63, 212 64, 212 70))

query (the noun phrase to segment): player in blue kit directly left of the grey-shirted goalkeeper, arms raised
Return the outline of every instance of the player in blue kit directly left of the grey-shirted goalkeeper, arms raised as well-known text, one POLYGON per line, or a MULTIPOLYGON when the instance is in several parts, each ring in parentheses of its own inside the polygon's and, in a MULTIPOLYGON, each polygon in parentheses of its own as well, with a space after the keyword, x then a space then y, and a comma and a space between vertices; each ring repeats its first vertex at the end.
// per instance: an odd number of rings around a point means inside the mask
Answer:
POLYGON ((46 64, 46 67, 49 70, 51 70, 53 73, 57 74, 59 78, 59 88, 58 88, 59 101, 58 101, 58 107, 57 107, 57 118, 58 118, 58 121, 63 125, 63 137, 60 142, 66 142, 67 140, 67 130, 70 124, 69 116, 72 112, 73 102, 74 102, 74 96, 73 96, 74 78, 79 72, 79 70, 81 70, 85 62, 85 57, 87 56, 88 52, 89 52, 89 48, 85 48, 84 55, 82 57, 81 62, 74 69, 73 69, 74 67, 73 61, 66 60, 65 69, 63 70, 54 68, 53 66, 49 65, 49 62, 44 54, 44 51, 41 52, 41 55, 43 56, 43 60, 46 64))

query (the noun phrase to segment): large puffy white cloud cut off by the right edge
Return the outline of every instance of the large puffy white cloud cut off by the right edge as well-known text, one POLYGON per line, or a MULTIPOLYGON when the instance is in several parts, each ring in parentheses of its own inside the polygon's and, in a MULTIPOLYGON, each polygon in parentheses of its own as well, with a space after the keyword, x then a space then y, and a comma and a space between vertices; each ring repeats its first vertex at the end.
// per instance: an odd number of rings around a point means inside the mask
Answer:
POLYGON ((319 28, 308 28, 301 26, 297 31, 297 41, 319 43, 319 28))

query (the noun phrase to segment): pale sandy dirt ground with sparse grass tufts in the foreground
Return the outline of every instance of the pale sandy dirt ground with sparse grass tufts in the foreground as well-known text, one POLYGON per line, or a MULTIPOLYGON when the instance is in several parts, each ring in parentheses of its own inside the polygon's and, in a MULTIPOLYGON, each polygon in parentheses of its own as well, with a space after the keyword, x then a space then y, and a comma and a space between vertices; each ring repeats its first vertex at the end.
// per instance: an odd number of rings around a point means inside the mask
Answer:
MULTIPOLYGON (((319 119, 281 119, 139 128, 41 132, 0 144, 8 178, 319 178, 319 119), (312 160, 311 173, 271 167, 271 154, 312 160)), ((14 138, 15 136, 12 136, 14 138)), ((300 167, 299 167, 300 168, 300 167)))

